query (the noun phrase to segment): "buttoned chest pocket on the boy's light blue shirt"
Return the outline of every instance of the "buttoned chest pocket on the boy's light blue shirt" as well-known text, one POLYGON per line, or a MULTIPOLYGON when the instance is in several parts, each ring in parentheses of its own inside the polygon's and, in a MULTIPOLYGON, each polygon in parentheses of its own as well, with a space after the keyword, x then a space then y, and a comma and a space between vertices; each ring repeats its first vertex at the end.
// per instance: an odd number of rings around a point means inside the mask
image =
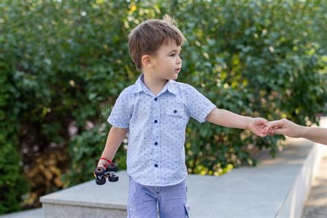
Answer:
POLYGON ((186 111, 183 105, 168 106, 166 108, 168 129, 184 130, 186 124, 186 111))

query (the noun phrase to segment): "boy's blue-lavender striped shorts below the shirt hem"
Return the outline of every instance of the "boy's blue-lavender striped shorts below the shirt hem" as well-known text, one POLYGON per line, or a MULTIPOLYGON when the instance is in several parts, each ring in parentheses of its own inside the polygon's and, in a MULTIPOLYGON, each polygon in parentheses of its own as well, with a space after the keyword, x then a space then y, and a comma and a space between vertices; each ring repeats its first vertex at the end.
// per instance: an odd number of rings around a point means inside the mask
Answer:
POLYGON ((190 216, 186 181, 173 186, 143 186, 130 177, 128 218, 181 218, 190 216))

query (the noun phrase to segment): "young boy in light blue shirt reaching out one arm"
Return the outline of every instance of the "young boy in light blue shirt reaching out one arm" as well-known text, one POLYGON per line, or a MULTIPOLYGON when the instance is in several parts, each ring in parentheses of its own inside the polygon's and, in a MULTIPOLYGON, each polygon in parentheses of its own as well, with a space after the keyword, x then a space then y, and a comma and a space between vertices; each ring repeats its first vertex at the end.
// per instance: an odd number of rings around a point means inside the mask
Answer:
POLYGON ((188 217, 184 142, 190 117, 265 136, 265 119, 218 109, 192 86, 175 81, 184 41, 168 15, 140 23, 128 36, 130 56, 142 73, 112 108, 98 163, 108 165, 128 132, 128 217, 157 217, 157 207, 160 217, 188 217))

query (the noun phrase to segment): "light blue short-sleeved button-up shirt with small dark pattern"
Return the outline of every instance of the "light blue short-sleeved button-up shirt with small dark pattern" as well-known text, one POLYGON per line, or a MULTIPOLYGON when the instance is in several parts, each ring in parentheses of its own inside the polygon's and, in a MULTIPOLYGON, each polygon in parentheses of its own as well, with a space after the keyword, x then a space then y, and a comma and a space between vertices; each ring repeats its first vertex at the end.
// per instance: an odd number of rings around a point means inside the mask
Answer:
POLYGON ((143 83, 125 88, 110 112, 112 126, 128 128, 127 172, 145 186, 172 186, 183 181, 185 132, 190 117, 200 123, 216 108, 187 83, 168 80, 155 96, 143 83))

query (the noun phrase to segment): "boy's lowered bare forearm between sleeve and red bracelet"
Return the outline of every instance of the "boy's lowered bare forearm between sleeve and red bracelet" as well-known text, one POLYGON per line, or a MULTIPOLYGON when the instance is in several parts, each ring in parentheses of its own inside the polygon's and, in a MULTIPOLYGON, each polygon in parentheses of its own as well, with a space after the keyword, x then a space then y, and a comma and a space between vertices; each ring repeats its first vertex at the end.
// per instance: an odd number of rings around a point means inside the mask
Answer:
POLYGON ((115 157, 116 152, 119 146, 121 145, 121 142, 123 142, 127 131, 128 128, 117 128, 115 126, 112 126, 108 133, 106 147, 104 148, 101 157, 105 157, 106 159, 112 160, 115 157))

